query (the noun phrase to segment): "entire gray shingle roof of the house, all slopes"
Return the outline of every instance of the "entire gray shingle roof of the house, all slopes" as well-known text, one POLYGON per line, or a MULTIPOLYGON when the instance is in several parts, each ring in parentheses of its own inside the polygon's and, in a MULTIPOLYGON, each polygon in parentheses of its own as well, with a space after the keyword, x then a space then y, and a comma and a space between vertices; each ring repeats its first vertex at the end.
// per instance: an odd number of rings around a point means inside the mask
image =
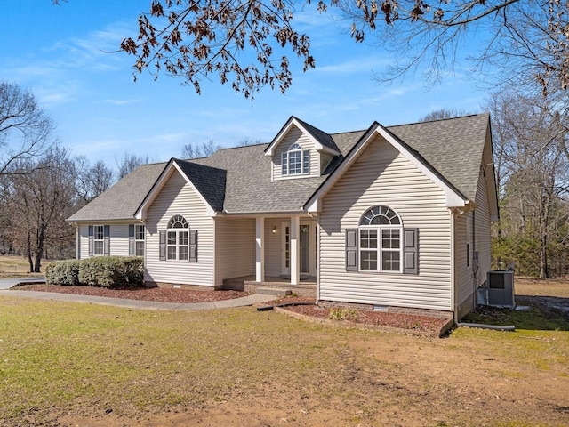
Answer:
MULTIPOLYGON (((480 114, 386 129, 452 188, 464 197, 474 199, 488 123, 488 114, 480 114)), ((271 158, 264 155, 269 144, 220 149, 211 157, 173 161, 180 165, 180 169, 218 212, 301 211, 366 132, 333 133, 326 137, 317 128, 304 122, 301 124, 318 141, 328 141, 325 145, 329 147, 332 141, 333 148, 341 152, 341 156, 336 157, 320 177, 271 181, 271 158)), ((165 165, 141 166, 69 220, 132 218, 165 165)))

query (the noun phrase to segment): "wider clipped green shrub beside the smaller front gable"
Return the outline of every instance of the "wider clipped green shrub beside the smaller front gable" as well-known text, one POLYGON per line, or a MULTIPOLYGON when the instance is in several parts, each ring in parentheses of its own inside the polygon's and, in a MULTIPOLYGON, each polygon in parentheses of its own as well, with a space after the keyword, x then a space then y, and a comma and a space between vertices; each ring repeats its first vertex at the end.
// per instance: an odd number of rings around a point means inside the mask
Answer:
POLYGON ((105 256, 82 260, 79 282, 87 286, 124 288, 144 282, 144 260, 140 257, 105 256))

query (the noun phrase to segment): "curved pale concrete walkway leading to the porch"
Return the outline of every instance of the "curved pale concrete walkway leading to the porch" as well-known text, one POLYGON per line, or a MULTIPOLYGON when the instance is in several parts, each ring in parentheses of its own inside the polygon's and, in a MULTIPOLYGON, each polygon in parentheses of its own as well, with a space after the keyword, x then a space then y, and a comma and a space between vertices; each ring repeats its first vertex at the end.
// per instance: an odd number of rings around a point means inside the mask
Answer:
POLYGON ((108 298, 106 296, 88 296, 76 294, 60 294, 57 292, 37 292, 37 291, 18 291, 10 290, 12 286, 21 282, 37 281, 31 279, 8 278, 0 280, 0 296, 23 296, 35 298, 37 300, 66 301, 66 302, 86 302, 89 304, 112 305, 128 309, 141 310, 212 310, 212 309, 231 309, 235 307, 246 307, 260 302, 268 302, 276 299, 275 295, 251 294, 242 298, 223 300, 216 302, 155 302, 138 301, 124 298, 108 298))

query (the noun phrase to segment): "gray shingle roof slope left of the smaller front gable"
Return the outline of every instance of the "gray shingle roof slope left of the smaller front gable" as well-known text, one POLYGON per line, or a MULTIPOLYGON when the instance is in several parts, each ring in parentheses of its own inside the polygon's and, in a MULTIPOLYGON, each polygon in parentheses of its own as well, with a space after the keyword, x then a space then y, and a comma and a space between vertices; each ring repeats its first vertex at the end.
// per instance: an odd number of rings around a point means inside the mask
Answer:
POLYGON ((132 219, 140 204, 164 170, 165 163, 143 165, 116 182, 99 197, 84 205, 68 221, 132 219))

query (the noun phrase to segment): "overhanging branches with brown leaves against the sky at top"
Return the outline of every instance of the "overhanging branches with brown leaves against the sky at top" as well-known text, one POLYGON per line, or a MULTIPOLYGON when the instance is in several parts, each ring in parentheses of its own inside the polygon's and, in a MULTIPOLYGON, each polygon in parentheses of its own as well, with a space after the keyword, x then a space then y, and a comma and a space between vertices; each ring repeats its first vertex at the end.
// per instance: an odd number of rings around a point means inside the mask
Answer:
MULTIPOLYGON (((142 70, 158 77, 164 69, 197 93, 201 80, 212 75, 245 97, 266 85, 284 92, 292 82, 291 55, 301 59, 304 71, 315 66, 309 36, 293 28, 297 10, 310 4, 155 0, 139 16, 139 34, 124 38, 120 48, 135 57, 135 78, 142 70), (247 50, 252 54, 243 54, 247 50)), ((320 0, 314 7, 339 9, 356 42, 375 32, 382 47, 397 52, 403 60, 378 75, 381 80, 424 64, 423 77, 437 82, 453 69, 462 43, 476 35, 471 58, 479 67, 500 65, 501 80, 509 76, 563 90, 569 83, 567 7, 559 0, 320 0)))

